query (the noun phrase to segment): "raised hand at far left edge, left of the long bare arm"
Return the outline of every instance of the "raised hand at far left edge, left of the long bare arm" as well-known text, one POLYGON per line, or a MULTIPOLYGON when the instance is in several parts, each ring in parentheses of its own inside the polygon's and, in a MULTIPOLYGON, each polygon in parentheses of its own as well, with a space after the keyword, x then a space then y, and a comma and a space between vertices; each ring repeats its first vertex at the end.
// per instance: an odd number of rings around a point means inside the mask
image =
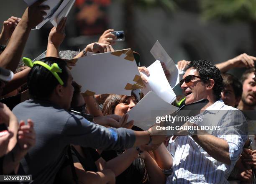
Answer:
POLYGON ((20 22, 21 18, 10 17, 3 22, 3 29, 0 34, 0 44, 5 45, 13 34, 15 27, 20 22))

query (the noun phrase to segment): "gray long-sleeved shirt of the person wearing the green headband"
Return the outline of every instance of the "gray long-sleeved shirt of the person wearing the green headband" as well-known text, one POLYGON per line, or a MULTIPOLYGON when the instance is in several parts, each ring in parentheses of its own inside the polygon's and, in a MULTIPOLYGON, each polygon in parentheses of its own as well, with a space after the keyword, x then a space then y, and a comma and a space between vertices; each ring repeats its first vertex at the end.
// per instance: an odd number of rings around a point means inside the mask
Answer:
POLYGON ((36 145, 19 169, 19 174, 32 174, 31 183, 53 183, 69 144, 117 150, 131 148, 135 142, 133 130, 105 128, 47 101, 26 100, 13 113, 19 121, 30 118, 34 122, 36 145))

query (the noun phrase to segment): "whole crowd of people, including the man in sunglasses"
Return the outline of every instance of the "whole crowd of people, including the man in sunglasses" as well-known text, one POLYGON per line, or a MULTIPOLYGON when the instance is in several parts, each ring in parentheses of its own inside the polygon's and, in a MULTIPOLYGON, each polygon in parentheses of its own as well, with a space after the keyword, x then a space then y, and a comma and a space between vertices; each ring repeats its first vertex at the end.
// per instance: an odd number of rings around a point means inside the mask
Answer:
MULTIPOLYGON (((0 33, 0 175, 31 175, 36 184, 256 183, 256 138, 243 128, 255 117, 255 57, 241 54, 216 66, 179 61, 184 94, 174 105, 197 105, 221 130, 160 135, 127 122, 143 95, 84 96, 73 81, 68 60, 114 51, 112 29, 81 52, 59 51, 63 18, 49 33, 46 56, 21 59, 31 29, 49 9, 42 2, 4 21, 0 33), (225 73, 237 67, 248 68, 241 79, 225 73)), ((146 67, 138 70, 150 75, 146 67)))

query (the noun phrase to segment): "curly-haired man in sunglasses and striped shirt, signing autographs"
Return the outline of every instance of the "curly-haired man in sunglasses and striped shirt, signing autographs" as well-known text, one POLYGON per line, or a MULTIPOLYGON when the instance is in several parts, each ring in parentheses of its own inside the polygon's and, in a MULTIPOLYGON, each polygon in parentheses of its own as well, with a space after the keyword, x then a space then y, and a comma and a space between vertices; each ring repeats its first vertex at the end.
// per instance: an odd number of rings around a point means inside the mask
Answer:
POLYGON ((187 130, 187 136, 179 136, 178 132, 170 143, 173 172, 166 183, 228 183, 247 138, 243 130, 246 120, 240 111, 220 99, 223 79, 210 61, 191 61, 184 71, 180 87, 186 96, 185 104, 205 99, 197 115, 203 121, 186 123, 197 128, 187 130), (204 125, 218 125, 220 130, 206 132, 202 130, 204 125))

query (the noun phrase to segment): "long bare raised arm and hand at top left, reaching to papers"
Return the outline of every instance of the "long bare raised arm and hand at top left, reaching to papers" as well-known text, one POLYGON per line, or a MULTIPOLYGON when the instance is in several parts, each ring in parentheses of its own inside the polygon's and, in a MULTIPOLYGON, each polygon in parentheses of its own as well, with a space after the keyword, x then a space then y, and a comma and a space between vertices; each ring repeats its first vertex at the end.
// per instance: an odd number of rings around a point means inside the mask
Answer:
POLYGON ((46 15, 44 10, 49 9, 48 6, 39 6, 43 1, 45 0, 39 0, 25 10, 13 31, 8 46, 0 55, 1 67, 13 72, 17 68, 31 29, 44 20, 43 15, 46 15))

